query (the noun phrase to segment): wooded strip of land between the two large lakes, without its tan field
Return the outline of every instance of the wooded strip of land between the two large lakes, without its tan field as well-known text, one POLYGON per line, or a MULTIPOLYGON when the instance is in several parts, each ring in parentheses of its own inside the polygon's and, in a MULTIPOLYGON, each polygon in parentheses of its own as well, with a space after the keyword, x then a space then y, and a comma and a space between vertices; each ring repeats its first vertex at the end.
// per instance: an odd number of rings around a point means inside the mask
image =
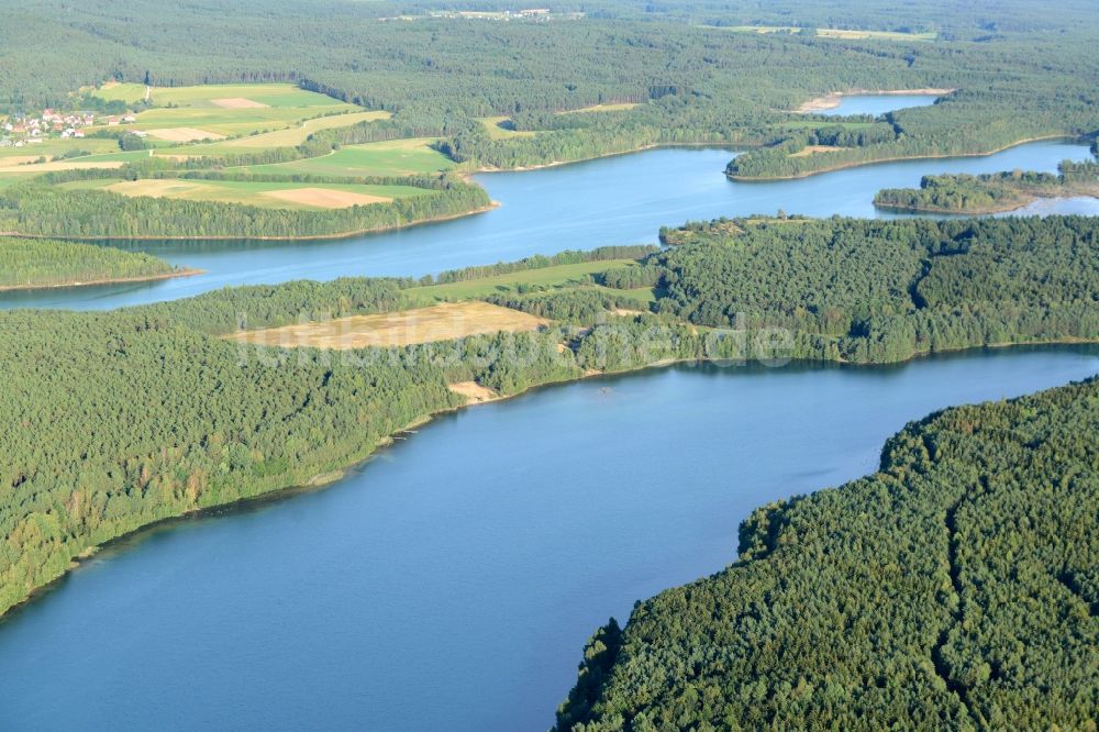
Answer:
POLYGON ((610 247, 430 280, 229 288, 104 313, 0 313, 5 409, 21 415, 19 430, 0 434, 0 481, 11 486, 0 504, 0 608, 115 536, 362 461, 395 432, 464 404, 454 382, 510 396, 674 361, 874 364, 1097 341, 1099 255, 1081 246, 1097 225, 719 221, 686 228, 664 252, 610 247), (553 319, 541 332, 344 354, 220 337, 396 312, 420 301, 418 288, 623 256, 642 259, 563 288, 484 298, 553 319), (753 277, 736 274, 745 267, 753 277), (636 300, 650 286, 655 302, 636 300), (67 435, 81 435, 79 445, 67 435))

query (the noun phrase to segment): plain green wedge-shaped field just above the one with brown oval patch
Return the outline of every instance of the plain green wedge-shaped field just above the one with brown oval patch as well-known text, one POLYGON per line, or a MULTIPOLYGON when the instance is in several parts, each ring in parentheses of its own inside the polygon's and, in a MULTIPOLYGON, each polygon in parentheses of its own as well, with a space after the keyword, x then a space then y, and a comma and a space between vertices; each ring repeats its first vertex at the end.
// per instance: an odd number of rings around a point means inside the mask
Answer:
POLYGON ((454 160, 429 147, 428 137, 347 145, 329 155, 257 165, 249 173, 308 173, 319 176, 410 176, 449 170, 454 160))

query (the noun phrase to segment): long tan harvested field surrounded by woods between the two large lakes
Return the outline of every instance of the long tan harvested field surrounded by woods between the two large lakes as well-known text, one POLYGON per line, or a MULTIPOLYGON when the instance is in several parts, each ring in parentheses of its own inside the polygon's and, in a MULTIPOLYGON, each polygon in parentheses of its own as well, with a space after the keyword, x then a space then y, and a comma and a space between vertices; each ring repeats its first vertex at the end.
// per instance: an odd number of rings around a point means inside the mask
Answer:
POLYGON ((226 336, 276 347, 365 348, 451 341, 499 331, 536 331, 550 321, 487 302, 447 302, 376 315, 243 331, 226 336))

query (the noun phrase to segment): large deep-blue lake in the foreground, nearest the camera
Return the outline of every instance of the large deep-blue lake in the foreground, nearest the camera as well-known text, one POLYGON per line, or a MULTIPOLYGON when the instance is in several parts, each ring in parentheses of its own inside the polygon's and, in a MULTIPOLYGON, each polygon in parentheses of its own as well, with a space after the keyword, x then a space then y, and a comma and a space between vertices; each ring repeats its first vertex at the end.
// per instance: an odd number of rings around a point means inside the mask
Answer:
POLYGON ((319 491, 122 542, 0 622, 3 730, 544 730, 581 646, 767 501, 1097 348, 675 367, 448 414, 319 491))

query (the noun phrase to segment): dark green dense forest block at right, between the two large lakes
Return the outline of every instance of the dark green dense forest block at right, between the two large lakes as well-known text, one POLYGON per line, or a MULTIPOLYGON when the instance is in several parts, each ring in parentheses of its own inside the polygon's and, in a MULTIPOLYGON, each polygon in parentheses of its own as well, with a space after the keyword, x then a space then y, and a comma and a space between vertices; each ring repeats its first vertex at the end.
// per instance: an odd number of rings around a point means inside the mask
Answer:
POLYGON ((660 313, 791 329, 798 357, 890 362, 1095 339, 1097 233, 1086 217, 718 221, 678 232, 692 243, 650 264, 664 269, 660 313))

